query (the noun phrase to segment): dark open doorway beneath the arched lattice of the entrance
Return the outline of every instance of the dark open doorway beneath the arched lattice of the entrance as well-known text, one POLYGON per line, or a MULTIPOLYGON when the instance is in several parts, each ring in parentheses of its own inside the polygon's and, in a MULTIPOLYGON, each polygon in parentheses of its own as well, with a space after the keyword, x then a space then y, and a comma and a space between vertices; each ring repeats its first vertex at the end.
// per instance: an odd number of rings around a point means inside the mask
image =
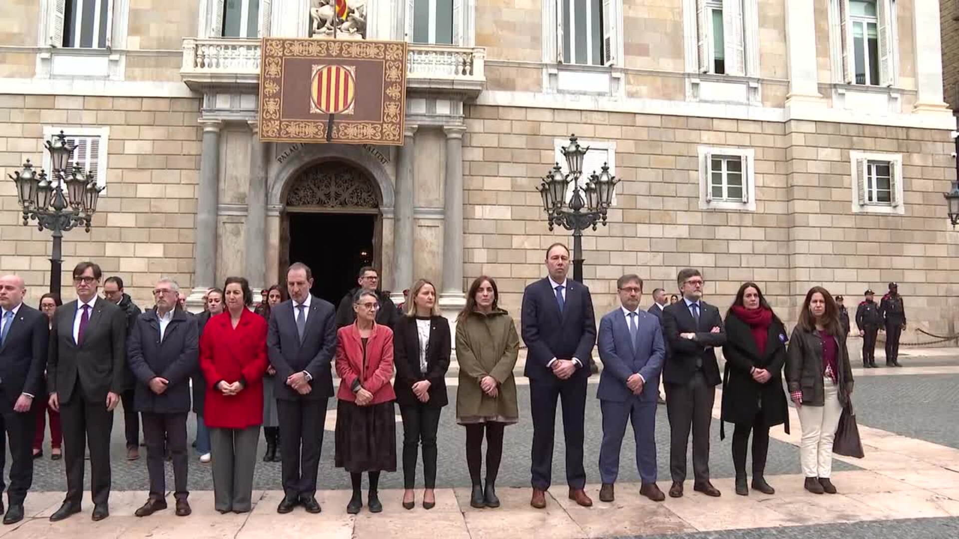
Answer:
POLYGON ((376 214, 288 214, 290 263, 313 269, 313 294, 334 305, 357 286, 357 271, 375 261, 376 214))

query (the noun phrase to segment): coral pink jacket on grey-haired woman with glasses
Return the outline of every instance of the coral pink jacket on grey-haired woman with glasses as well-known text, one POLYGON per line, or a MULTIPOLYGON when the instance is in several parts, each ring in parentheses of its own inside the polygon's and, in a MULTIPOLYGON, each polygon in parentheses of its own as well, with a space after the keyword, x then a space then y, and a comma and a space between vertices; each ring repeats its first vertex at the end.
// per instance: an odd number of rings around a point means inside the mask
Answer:
POLYGON ((373 331, 366 341, 366 368, 363 369, 363 341, 356 322, 343 326, 337 332, 337 374, 339 390, 337 398, 355 402, 353 382, 360 380, 364 389, 373 393, 371 404, 386 403, 396 399, 389 379, 393 376, 393 330, 388 326, 373 324, 373 331))

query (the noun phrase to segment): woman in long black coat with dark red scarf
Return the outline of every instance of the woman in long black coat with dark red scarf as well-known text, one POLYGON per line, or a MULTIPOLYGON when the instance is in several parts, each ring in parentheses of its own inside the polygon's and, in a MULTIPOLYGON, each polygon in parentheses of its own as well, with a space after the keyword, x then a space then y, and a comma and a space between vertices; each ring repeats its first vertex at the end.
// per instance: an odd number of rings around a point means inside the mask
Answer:
MULTIPOLYGON (((756 283, 739 287, 736 300, 726 313, 726 371, 722 387, 722 421, 736 425, 733 432, 733 463, 736 493, 746 487, 746 446, 753 433, 753 488, 765 494, 775 490, 763 478, 769 428, 785 424, 789 412, 783 390, 785 327, 762 297, 756 283)), ((725 429, 720 434, 725 434, 725 429)))

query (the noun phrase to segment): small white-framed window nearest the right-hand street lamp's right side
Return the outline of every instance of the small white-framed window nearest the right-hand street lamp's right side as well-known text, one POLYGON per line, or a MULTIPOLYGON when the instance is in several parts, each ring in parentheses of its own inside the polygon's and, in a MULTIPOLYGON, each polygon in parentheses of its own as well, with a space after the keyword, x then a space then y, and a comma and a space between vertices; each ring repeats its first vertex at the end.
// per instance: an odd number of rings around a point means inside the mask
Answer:
POLYGON ((700 209, 756 210, 756 152, 699 147, 700 209))

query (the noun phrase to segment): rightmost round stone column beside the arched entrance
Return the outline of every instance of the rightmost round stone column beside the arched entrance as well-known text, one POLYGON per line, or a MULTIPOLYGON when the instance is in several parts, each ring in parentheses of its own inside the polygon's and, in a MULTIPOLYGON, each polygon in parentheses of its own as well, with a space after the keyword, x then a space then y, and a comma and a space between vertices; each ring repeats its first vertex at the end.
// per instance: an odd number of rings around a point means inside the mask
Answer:
POLYGON ((463 126, 443 128, 446 133, 446 178, 443 197, 443 292, 439 305, 458 311, 463 297, 463 126))

